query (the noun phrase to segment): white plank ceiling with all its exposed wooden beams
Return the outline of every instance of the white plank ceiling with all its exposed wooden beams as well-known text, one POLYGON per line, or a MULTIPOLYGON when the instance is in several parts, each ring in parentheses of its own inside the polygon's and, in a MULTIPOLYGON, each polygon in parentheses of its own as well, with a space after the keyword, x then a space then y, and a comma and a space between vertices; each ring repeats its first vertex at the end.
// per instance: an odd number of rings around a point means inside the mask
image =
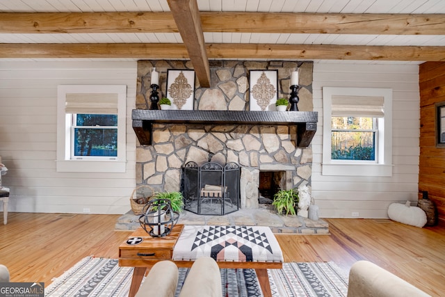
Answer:
POLYGON ((0 59, 444 61, 443 0, 15 0, 0 59), (184 40, 184 41, 183 41, 184 40))

